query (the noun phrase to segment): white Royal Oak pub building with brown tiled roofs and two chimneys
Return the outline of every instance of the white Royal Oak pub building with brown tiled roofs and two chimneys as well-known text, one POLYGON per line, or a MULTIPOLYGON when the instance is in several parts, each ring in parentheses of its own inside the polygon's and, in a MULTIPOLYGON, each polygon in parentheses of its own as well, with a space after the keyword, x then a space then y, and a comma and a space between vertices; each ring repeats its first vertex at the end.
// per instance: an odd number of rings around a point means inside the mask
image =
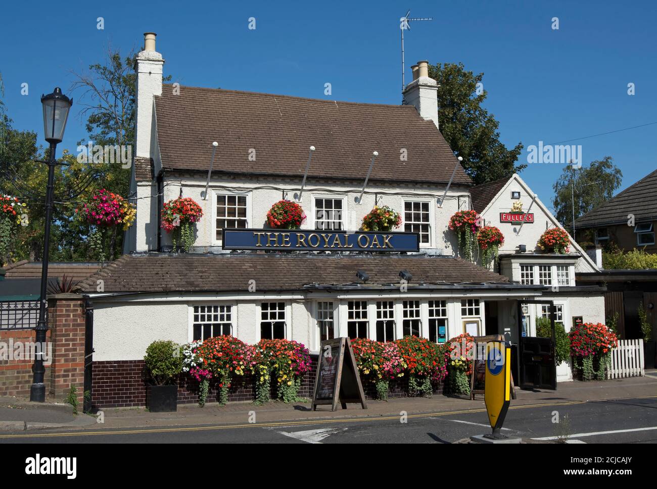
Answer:
MULTIPOLYGON (((604 289, 574 282, 597 271, 586 253, 574 242, 568 255, 533 251, 560 224, 520 177, 473 186, 440 133, 426 61, 400 106, 168 85, 163 66, 147 33, 135 62, 136 221, 125 254, 81 282, 94 308, 95 404, 143 404, 108 379, 139 379, 157 339, 286 338, 317 354, 332 337, 502 334, 525 351, 551 302, 566 330, 574 316, 604 322, 604 289), (189 253, 173 252, 162 229, 162 206, 179 196, 203 211, 189 253), (280 200, 304 209, 300 229, 267 228, 280 200), (520 200, 531 215, 522 226, 505 217, 520 200), (375 205, 401 226, 359 231, 375 205), (468 209, 505 236, 489 268, 458 256, 448 223, 468 209)), ((558 373, 570 378, 567 366, 558 373)))

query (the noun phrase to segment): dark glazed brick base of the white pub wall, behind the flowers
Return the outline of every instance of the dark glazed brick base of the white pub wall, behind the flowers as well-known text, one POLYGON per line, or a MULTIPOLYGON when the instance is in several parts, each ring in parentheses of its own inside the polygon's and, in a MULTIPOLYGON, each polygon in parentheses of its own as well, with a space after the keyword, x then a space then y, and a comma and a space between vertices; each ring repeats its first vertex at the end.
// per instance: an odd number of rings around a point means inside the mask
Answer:
MULTIPOLYGON (((311 398, 315 384, 317 356, 312 357, 313 364, 309 373, 302 379, 299 395, 311 398)), ((145 406, 147 379, 143 360, 122 360, 117 362, 93 362, 93 394, 91 402, 94 408, 145 406)), ((210 382, 208 402, 217 402, 217 383, 210 382)), ((363 382, 365 396, 373 399, 376 389, 373 383, 363 382)), ((407 396, 408 379, 396 379, 390 383, 390 398, 407 396)), ((434 386, 434 393, 442 393, 442 385, 434 386)), ((252 376, 244 375, 235 379, 228 394, 229 402, 252 401, 256 395, 256 385, 252 376)), ((272 386, 271 398, 276 396, 272 386)), ((198 381, 189 375, 181 375, 178 381, 178 404, 198 402, 198 381)))

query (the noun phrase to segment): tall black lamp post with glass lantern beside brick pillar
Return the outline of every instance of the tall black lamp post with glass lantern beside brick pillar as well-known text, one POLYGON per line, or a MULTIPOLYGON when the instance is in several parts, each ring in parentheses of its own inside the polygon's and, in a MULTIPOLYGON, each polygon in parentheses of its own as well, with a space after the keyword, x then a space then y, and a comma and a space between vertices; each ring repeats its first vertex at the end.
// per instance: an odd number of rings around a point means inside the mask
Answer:
POLYGON ((49 95, 41 95, 43 104, 43 130, 45 140, 50 143, 50 154, 48 158, 48 184, 45 196, 45 232, 43 235, 43 259, 41 263, 41 295, 39 295, 39 322, 37 323, 36 343, 41 349, 36 350, 32 373, 34 379, 30 387, 30 400, 35 402, 45 401, 45 383, 43 375, 43 351, 45 350, 45 333, 48 324, 45 320, 47 307, 46 290, 48 285, 48 251, 50 248, 50 221, 53 215, 53 192, 55 189, 55 148, 57 143, 62 142, 68 111, 73 105, 73 100, 64 95, 59 87, 55 88, 49 95))

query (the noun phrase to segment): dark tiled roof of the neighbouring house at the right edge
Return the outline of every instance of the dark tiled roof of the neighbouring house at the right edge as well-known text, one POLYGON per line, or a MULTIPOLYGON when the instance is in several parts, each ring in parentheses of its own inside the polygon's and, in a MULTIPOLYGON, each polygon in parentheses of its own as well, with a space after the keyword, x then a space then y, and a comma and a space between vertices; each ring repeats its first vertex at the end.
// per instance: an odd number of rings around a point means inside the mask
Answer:
POLYGON ((593 211, 576 219, 576 228, 592 228, 608 224, 627 223, 627 215, 634 215, 634 222, 657 219, 657 170, 625 188, 593 211))

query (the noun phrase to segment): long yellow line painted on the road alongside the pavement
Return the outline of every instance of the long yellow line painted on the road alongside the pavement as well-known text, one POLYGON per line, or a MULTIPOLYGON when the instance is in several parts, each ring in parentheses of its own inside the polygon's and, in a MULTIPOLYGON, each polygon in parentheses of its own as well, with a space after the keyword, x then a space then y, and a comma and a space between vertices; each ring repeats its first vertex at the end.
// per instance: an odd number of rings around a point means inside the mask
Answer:
MULTIPOLYGON (((657 397, 657 396, 652 396, 657 397)), ((637 398, 632 398, 637 399, 637 398)), ((526 409, 526 408, 541 408, 545 406, 570 406, 572 404, 585 404, 588 401, 567 401, 567 402, 541 402, 539 404, 526 404, 524 406, 510 406, 510 410, 526 409)), ((485 409, 470 409, 460 411, 447 411, 442 413, 425 413, 425 414, 409 414, 408 418, 415 417, 432 417, 432 416, 446 416, 451 414, 468 414, 468 413, 485 413, 485 409)), ((355 417, 355 418, 342 418, 342 419, 309 419, 307 421, 271 421, 267 423, 248 423, 246 425, 213 425, 202 427, 185 427, 185 428, 156 428, 156 429, 128 429, 123 431, 73 431, 62 433, 34 433, 31 435, 0 435, 1 438, 62 438, 66 436, 96 436, 96 435, 142 435, 147 433, 181 433, 183 431, 206 431, 206 430, 219 430, 219 429, 237 429, 237 428, 264 428, 264 427, 287 427, 287 426, 304 426, 304 425, 321 425, 328 423, 359 423, 363 421, 390 421, 392 419, 399 420, 399 416, 380 416, 380 417, 355 417)), ((120 428, 118 428, 120 429, 120 428)))

